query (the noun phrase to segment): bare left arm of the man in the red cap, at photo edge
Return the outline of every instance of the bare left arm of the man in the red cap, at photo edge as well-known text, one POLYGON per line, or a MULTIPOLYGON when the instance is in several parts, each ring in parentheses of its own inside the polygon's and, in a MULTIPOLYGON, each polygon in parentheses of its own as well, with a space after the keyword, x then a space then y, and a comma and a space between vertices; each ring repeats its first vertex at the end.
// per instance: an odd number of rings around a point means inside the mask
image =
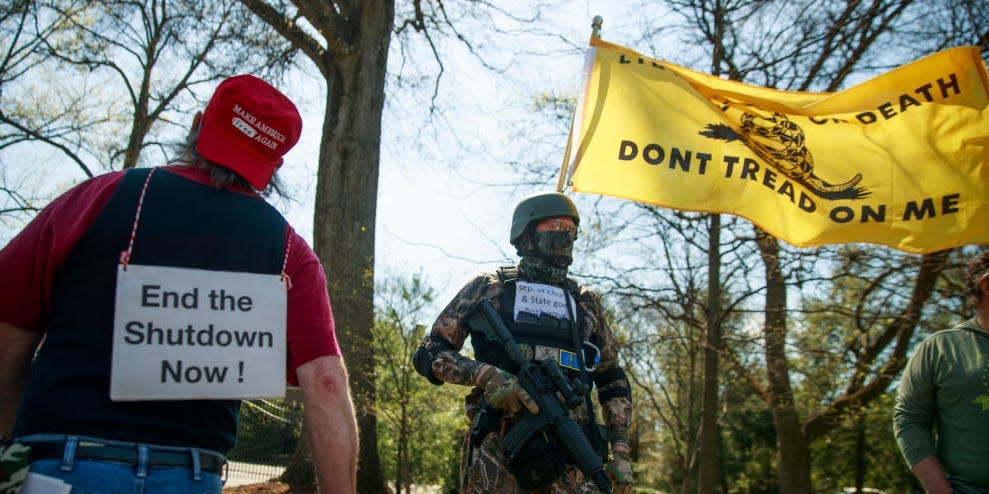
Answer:
POLYGON ((0 322, 0 436, 14 429, 38 335, 0 322))

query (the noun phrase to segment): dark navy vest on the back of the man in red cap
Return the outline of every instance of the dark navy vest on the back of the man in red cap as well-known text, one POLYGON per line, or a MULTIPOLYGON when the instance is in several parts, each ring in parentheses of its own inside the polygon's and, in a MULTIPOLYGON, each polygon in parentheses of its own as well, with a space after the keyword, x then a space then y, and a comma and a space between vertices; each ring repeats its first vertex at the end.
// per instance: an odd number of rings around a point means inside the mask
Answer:
MULTIPOLYGON (((235 442, 238 400, 113 402, 109 397, 117 264, 150 169, 126 173, 55 274, 14 435, 97 436, 211 449, 235 442)), ((281 272, 287 223, 256 197, 165 171, 141 210, 132 264, 281 272)))

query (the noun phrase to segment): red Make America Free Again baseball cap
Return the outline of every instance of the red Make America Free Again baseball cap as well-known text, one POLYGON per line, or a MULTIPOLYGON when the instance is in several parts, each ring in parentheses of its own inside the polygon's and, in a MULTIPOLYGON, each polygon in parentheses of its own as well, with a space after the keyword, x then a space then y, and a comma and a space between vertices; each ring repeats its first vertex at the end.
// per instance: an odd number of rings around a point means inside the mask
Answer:
POLYGON ((206 105, 196 150, 261 190, 301 132, 292 100, 253 75, 236 75, 221 82, 206 105))

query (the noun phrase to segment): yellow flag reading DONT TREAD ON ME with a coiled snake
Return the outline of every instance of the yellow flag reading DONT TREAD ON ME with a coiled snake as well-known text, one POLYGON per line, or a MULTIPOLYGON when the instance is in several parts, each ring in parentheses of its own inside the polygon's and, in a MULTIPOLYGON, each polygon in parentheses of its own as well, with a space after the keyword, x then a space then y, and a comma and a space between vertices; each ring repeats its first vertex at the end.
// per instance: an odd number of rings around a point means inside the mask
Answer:
POLYGON ((974 47, 838 93, 750 86, 594 38, 559 189, 736 214, 796 246, 989 243, 974 47))

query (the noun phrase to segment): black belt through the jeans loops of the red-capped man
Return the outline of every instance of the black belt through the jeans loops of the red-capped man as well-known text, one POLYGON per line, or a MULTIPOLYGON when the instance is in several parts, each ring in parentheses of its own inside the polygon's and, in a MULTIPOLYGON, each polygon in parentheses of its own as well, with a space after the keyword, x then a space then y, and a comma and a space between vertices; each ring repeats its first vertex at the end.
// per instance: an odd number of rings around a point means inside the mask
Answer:
MULTIPOLYGON (((31 461, 35 460, 61 460, 65 454, 64 442, 43 442, 30 443, 31 461)), ((182 467, 192 469, 192 451, 162 451, 148 447, 147 465, 149 467, 182 467)), ((137 447, 113 446, 93 443, 80 443, 76 445, 75 459, 108 461, 112 463, 124 463, 127 465, 137 465, 139 462, 137 447)), ((204 472, 223 474, 223 465, 226 459, 215 453, 205 451, 199 452, 199 468, 204 472)))

